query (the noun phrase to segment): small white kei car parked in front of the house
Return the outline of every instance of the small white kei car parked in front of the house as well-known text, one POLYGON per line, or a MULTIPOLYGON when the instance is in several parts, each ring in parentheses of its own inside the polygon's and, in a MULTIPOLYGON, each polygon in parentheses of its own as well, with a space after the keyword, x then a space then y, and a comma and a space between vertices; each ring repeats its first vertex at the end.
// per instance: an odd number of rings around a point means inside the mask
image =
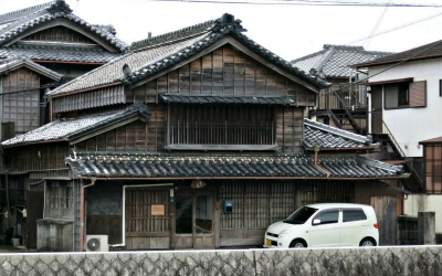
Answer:
POLYGON ((265 231, 264 247, 377 246, 378 222, 370 205, 311 204, 265 231))

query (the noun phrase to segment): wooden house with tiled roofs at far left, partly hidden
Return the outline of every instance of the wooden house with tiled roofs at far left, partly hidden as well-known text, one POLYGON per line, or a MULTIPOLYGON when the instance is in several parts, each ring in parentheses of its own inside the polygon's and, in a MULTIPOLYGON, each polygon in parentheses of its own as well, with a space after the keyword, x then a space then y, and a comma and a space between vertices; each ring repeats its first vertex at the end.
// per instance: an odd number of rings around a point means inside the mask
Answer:
MULTIPOLYGON (((0 134, 6 140, 39 128, 50 121, 44 99, 46 89, 73 79, 125 53, 127 45, 115 36, 112 25, 93 25, 72 13, 63 1, 0 14, 0 134)), ((31 185, 24 174, 9 181, 0 155, 0 237, 14 227, 18 236, 30 236, 27 245, 35 247, 35 230, 24 233, 20 212, 28 204, 39 210, 29 213, 28 222, 42 217, 43 185, 31 185), (41 191, 39 191, 41 190, 41 191), (11 197, 7 197, 11 194, 11 197), (41 200, 36 200, 41 199, 41 200), (23 233, 22 233, 23 232, 23 233)), ((32 229, 32 225, 29 225, 32 229)))

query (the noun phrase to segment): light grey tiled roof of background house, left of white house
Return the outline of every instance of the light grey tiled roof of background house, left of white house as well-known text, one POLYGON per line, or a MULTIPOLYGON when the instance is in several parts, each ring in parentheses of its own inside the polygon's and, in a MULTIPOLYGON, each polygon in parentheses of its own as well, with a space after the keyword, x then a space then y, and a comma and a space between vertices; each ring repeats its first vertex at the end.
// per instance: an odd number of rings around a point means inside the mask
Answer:
POLYGON ((388 52, 366 51, 362 46, 325 44, 324 50, 296 59, 292 64, 309 72, 323 72, 326 77, 349 77, 352 68, 348 65, 372 61, 390 55, 388 52))

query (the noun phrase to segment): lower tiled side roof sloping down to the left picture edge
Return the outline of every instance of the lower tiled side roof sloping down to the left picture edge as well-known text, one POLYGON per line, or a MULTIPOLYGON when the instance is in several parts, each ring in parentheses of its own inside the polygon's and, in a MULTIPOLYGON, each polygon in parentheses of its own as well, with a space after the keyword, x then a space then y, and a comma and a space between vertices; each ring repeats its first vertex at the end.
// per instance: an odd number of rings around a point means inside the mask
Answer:
POLYGON ((78 117, 74 119, 59 119, 24 135, 6 140, 1 142, 1 145, 19 146, 51 140, 69 140, 94 129, 115 124, 116 121, 134 115, 150 116, 146 105, 137 103, 118 113, 78 117))

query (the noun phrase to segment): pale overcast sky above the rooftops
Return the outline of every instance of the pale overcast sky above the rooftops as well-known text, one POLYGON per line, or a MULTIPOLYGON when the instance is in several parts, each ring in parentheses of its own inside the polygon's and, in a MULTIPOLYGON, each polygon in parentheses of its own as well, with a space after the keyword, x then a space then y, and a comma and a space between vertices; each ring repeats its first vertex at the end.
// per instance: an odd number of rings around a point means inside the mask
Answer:
MULTIPOLYGON (((270 0, 272 1, 272 0, 270 0)), ((388 0, 377 0, 378 2, 388 0)), ((394 3, 440 3, 431 0, 391 0, 394 3)), ((42 0, 0 0, 0 13, 44 3, 42 0)), ((277 55, 293 60, 319 51, 324 44, 349 44, 367 38, 385 8, 306 7, 166 2, 148 0, 67 0, 74 13, 90 23, 113 24, 117 36, 131 43, 232 13, 246 35, 277 55)), ((375 36, 366 50, 400 52, 442 40, 442 8, 388 8, 377 32, 434 14, 433 19, 375 36)))

